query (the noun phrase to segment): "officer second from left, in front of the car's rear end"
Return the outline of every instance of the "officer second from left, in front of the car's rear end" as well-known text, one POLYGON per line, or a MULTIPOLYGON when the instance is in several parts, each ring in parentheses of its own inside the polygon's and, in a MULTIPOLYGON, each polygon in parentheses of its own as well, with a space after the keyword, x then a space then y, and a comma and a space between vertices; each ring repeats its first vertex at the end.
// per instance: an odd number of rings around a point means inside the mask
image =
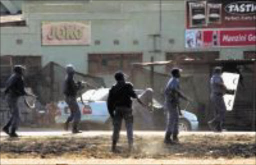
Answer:
POLYGON ((78 124, 81 119, 81 112, 76 102, 76 94, 77 91, 82 88, 82 85, 80 81, 74 81, 74 72, 75 70, 72 64, 66 65, 63 93, 65 95, 65 101, 70 109, 70 115, 64 123, 64 129, 68 130, 68 124, 73 120, 72 133, 80 133, 81 131, 78 130, 78 124))

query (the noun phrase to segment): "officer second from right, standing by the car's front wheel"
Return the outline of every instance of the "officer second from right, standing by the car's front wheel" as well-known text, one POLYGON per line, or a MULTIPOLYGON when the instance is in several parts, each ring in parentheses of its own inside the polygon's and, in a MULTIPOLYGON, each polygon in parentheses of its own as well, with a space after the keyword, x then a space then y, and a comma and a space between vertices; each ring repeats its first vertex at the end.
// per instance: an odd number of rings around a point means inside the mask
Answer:
POLYGON ((167 85, 164 90, 164 110, 166 114, 166 130, 164 143, 170 144, 173 142, 178 142, 178 115, 181 115, 179 108, 179 98, 190 101, 179 89, 179 77, 180 77, 179 68, 172 68, 171 75, 172 77, 167 82, 167 85), (170 136, 172 135, 172 140, 170 136))

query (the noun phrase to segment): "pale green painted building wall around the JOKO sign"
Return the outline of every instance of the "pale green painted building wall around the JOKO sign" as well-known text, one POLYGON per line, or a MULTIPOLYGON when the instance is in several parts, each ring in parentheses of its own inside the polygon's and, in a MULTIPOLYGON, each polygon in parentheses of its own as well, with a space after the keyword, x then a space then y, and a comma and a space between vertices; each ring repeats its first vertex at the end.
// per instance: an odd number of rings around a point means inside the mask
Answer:
MULTIPOLYGON (((80 72, 87 73, 87 54, 99 52, 143 52, 143 60, 164 60, 165 52, 190 51, 184 48, 184 1, 162 1, 162 53, 150 53, 152 38, 159 33, 158 0, 25 0, 22 4, 26 27, 0 28, 0 55, 42 55, 42 65, 55 61, 61 65, 73 63, 80 72), (91 21, 91 45, 41 46, 41 21, 91 21), (173 38, 170 44, 168 39, 173 38), (23 43, 16 44, 16 39, 23 43), (94 40, 100 45, 94 45, 94 40), (118 39, 119 45, 113 40, 118 39), (133 45, 132 40, 139 41, 133 45)), ((255 47, 211 48, 220 51, 221 58, 242 58, 244 50, 255 47)), ((195 49, 194 51, 204 51, 195 49)))

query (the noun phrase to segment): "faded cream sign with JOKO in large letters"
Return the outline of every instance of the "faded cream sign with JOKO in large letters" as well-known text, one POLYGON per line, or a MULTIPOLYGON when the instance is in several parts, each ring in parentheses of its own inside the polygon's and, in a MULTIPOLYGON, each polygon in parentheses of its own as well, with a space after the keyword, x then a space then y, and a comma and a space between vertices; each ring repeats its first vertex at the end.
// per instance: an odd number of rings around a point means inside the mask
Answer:
POLYGON ((90 44, 89 21, 43 21, 41 23, 42 45, 90 44))

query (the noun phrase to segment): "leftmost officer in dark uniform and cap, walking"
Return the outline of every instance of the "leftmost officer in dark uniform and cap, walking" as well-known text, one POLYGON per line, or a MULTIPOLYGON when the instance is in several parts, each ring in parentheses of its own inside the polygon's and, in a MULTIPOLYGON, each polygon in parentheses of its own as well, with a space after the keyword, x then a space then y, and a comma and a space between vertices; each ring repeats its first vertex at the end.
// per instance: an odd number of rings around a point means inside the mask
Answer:
POLYGON ((4 94, 7 98, 7 103, 10 108, 11 117, 8 122, 3 126, 2 130, 9 134, 9 136, 16 137, 16 129, 18 128, 19 123, 19 109, 17 106, 17 101, 19 96, 27 95, 24 90, 24 80, 23 72, 25 68, 21 65, 15 65, 13 68, 13 74, 8 78, 6 82, 6 88, 4 94), (9 131, 10 127, 10 131, 9 131))

